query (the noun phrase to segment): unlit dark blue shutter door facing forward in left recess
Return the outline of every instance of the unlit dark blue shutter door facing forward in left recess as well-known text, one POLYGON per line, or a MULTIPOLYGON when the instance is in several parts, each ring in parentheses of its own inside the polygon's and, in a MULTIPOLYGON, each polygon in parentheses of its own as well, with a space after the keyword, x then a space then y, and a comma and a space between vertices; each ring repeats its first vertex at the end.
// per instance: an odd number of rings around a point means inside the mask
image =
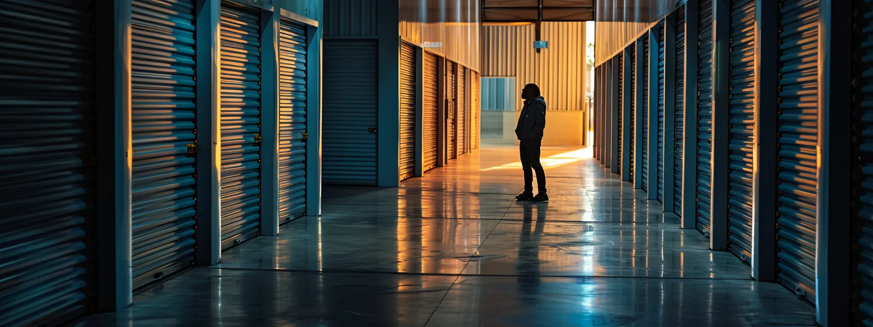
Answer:
POLYGON ((376 184, 378 73, 374 40, 326 40, 322 181, 376 184))

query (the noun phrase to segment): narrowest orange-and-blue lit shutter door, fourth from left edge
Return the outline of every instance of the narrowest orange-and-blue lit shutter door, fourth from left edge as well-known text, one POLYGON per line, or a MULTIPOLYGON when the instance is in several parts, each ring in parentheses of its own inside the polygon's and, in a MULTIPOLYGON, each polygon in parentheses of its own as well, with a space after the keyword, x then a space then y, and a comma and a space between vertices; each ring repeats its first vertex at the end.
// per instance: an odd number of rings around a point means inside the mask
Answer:
POLYGON ((279 22, 278 221, 306 215, 306 41, 306 27, 279 22))

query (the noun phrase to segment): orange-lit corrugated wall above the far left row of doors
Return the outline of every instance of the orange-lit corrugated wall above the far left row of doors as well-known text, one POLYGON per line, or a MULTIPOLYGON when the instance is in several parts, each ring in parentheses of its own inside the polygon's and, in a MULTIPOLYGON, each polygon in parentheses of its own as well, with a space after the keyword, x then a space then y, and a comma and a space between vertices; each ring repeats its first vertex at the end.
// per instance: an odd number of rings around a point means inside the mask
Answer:
POLYGON ((481 0, 399 0, 399 4, 404 40, 479 71, 481 0))

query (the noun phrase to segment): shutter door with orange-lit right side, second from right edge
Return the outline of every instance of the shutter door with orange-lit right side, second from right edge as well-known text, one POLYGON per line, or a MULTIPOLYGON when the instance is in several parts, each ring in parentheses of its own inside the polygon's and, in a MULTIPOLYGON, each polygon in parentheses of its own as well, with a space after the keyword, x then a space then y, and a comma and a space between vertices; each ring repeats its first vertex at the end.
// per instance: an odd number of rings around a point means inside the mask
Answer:
POLYGON ((778 279, 814 300, 819 2, 780 4, 778 279))

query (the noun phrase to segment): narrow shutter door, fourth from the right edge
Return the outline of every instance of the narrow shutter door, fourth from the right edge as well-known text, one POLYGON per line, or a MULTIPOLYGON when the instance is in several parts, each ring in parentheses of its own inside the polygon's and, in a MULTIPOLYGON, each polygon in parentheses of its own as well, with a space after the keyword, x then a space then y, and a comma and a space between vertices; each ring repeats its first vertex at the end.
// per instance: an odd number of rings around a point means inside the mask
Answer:
POLYGON ((697 228, 708 234, 712 189, 712 0, 701 0, 699 10, 697 228))

